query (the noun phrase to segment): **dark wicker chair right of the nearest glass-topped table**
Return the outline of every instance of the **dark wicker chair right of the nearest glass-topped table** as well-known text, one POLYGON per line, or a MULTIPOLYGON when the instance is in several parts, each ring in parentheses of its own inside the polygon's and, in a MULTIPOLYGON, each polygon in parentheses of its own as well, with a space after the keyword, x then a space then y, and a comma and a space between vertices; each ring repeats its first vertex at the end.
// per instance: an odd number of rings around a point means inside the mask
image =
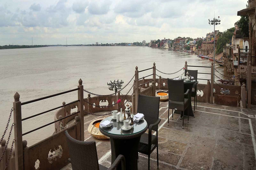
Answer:
MULTIPOLYGON (((156 148, 157 151, 157 169, 158 169, 158 124, 160 97, 139 95, 138 113, 144 114, 144 119, 148 123, 148 133, 141 135, 139 143, 139 152, 148 155, 148 169, 150 169, 150 154, 156 148), (156 135, 152 134, 156 131, 156 135)), ((139 159, 138 159, 139 160, 139 159)))

